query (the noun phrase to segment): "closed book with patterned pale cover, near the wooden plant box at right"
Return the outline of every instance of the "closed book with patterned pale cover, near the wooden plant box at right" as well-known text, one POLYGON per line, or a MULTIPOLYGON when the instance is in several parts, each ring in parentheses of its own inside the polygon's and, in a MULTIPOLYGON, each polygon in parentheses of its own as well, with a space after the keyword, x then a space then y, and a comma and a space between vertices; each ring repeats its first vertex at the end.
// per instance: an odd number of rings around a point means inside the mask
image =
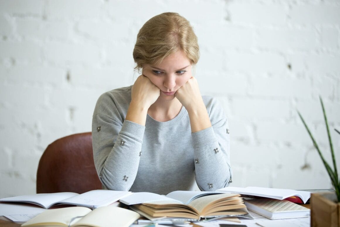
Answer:
POLYGON ((271 198, 245 199, 244 204, 248 210, 272 220, 310 216, 310 209, 288 200, 271 198))

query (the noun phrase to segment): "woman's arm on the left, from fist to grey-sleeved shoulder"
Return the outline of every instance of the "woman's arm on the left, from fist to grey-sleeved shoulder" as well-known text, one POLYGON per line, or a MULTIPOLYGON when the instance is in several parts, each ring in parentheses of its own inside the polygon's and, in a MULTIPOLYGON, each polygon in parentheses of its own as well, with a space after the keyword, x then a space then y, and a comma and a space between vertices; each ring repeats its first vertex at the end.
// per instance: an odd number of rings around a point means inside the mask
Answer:
POLYGON ((92 119, 92 146, 98 176, 108 189, 128 191, 136 178, 148 105, 160 93, 154 87, 147 77, 137 78, 125 120, 118 111, 121 104, 116 106, 111 97, 104 94, 97 102, 92 119))

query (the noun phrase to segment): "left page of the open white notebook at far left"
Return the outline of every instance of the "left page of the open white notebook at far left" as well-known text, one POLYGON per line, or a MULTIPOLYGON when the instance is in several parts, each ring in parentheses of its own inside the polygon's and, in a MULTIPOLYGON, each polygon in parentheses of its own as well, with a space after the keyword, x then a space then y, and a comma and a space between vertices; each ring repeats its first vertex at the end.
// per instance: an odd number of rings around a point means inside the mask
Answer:
POLYGON ((9 198, 0 199, 2 202, 28 202, 39 205, 46 209, 50 208, 57 202, 79 195, 74 192, 58 192, 58 193, 39 193, 33 195, 23 195, 23 196, 15 196, 9 198))

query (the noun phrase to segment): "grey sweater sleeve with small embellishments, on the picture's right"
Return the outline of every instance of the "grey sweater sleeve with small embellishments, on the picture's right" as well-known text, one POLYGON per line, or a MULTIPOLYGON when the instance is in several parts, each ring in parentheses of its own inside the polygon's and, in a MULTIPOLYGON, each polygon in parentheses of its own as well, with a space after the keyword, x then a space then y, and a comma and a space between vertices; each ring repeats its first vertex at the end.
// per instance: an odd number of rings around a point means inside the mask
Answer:
POLYGON ((202 191, 215 191, 232 182, 229 128, 224 111, 215 99, 211 99, 207 109, 212 126, 191 135, 197 185, 202 191))

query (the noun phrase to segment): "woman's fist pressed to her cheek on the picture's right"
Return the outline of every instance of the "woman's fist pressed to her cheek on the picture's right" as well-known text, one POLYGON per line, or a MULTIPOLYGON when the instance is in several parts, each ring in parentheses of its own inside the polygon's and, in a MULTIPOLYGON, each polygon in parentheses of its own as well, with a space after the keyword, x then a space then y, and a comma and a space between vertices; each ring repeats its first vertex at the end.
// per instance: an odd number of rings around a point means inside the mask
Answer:
POLYGON ((200 88, 198 87, 198 82, 195 77, 191 77, 182 87, 180 87, 176 91, 175 96, 187 110, 203 102, 200 88))

